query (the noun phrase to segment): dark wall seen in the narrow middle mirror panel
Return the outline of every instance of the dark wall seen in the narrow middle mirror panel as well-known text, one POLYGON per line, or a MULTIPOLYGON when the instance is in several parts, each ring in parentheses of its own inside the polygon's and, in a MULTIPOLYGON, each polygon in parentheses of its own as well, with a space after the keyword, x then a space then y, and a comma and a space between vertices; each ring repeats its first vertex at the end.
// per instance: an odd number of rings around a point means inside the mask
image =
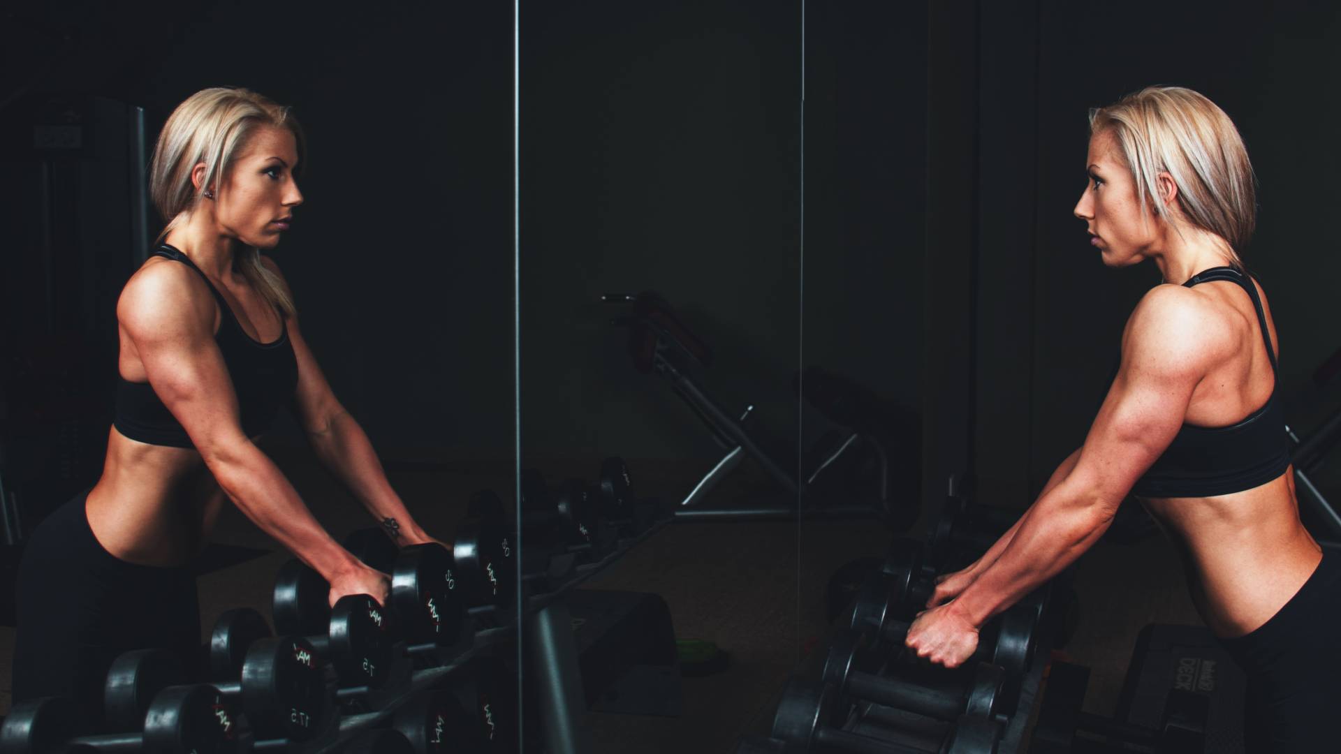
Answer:
POLYGON ((523 455, 720 452, 599 303, 642 290, 794 447, 799 3, 534 3, 520 54, 523 455))

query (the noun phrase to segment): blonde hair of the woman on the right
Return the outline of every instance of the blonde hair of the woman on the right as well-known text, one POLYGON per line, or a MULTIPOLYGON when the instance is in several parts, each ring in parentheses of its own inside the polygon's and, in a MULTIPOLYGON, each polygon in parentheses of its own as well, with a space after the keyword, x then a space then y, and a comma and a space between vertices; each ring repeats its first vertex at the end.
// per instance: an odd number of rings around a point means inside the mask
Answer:
MULTIPOLYGON (((1147 196, 1160 196, 1156 180, 1168 172, 1187 220, 1228 241, 1231 263, 1243 268, 1239 252, 1257 224, 1257 191, 1247 148, 1224 110, 1191 89, 1149 86, 1092 109, 1089 119, 1092 136, 1106 130, 1121 146, 1147 217, 1147 196)), ((1169 219, 1163 201, 1151 204, 1169 219)))

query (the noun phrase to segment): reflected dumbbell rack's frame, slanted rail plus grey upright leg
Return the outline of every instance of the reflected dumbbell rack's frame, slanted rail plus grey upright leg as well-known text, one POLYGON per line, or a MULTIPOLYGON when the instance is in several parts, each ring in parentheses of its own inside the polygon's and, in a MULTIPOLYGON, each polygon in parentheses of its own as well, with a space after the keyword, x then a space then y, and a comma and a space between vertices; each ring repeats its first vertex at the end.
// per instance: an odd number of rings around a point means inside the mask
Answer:
MULTIPOLYGON (((620 538, 614 550, 599 561, 573 566, 570 572, 566 566, 562 568, 561 572, 567 573, 561 584, 546 584, 546 578, 523 578, 519 590, 522 597, 518 600, 518 620, 495 621, 506 625, 475 631, 473 640, 467 649, 440 667, 413 671, 408 683, 402 684, 394 696, 384 700, 378 710, 343 715, 339 718, 338 731, 333 731, 333 735, 320 737, 322 741, 310 742, 307 746, 290 746, 286 751, 295 754, 342 751, 357 734, 389 720, 414 694, 433 688, 463 672, 469 661, 485 649, 515 640, 518 627, 524 632, 524 644, 534 660, 534 669, 526 676, 526 683, 535 684, 535 688, 539 690, 536 699, 540 706, 539 719, 544 737, 544 751, 547 754, 590 751, 590 742, 579 726, 586 703, 571 614, 565 597, 571 589, 618 561, 632 547, 657 534, 670 521, 669 517, 657 518, 652 526, 636 537, 620 538), (538 585, 532 586, 528 581, 538 582, 538 585), (535 593, 527 593, 527 589, 534 589, 535 593)), ((524 543, 519 539, 519 551, 523 546, 524 543)), ((575 557, 574 554, 557 555, 557 558, 575 557)), ((522 578, 520 572, 519 578, 522 578)), ((484 612, 488 609, 472 608, 472 618, 484 612)), ((511 618, 512 614, 510 612, 507 617, 511 618)), ((523 727, 522 719, 523 714, 519 712, 519 730, 523 727)))

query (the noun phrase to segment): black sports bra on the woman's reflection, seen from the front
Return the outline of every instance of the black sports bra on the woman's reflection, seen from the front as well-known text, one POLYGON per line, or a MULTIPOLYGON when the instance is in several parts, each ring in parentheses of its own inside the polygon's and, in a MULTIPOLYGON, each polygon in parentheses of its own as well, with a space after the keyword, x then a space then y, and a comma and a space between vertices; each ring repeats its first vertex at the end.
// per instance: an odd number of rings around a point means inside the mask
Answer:
MULTIPOLYGON (((294 356, 294 345, 288 342, 288 326, 283 326, 279 339, 274 342, 253 341, 243 330, 224 297, 189 256, 168 244, 160 244, 153 254, 190 267, 215 294, 215 301, 223 310, 223 322, 215 334, 215 342, 219 343, 219 352, 224 357, 233 390, 237 393, 243 431, 248 437, 263 435, 275 421, 279 407, 287 402, 298 388, 298 357, 294 356)), ((280 322, 283 323, 283 318, 280 322)), ((114 427, 126 437, 141 443, 173 448, 194 447, 181 423, 168 411, 153 386, 148 382, 131 382, 119 376, 114 427)))

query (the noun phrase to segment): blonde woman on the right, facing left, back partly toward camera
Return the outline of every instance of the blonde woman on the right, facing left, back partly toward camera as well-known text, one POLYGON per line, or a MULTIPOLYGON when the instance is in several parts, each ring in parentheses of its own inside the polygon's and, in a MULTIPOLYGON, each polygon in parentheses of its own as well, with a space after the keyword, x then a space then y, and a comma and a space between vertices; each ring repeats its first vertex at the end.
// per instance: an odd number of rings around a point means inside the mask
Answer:
POLYGON ((978 562, 937 585, 908 645, 963 663, 978 627, 1089 549, 1132 492, 1180 550, 1198 610, 1247 674, 1250 750, 1328 750, 1324 729, 1341 702, 1341 562, 1322 557, 1294 499, 1275 330, 1238 255, 1255 216, 1243 141, 1219 107, 1177 87, 1092 113, 1090 133, 1075 216, 1105 264, 1153 260, 1164 284, 1126 323, 1085 444, 978 562))

